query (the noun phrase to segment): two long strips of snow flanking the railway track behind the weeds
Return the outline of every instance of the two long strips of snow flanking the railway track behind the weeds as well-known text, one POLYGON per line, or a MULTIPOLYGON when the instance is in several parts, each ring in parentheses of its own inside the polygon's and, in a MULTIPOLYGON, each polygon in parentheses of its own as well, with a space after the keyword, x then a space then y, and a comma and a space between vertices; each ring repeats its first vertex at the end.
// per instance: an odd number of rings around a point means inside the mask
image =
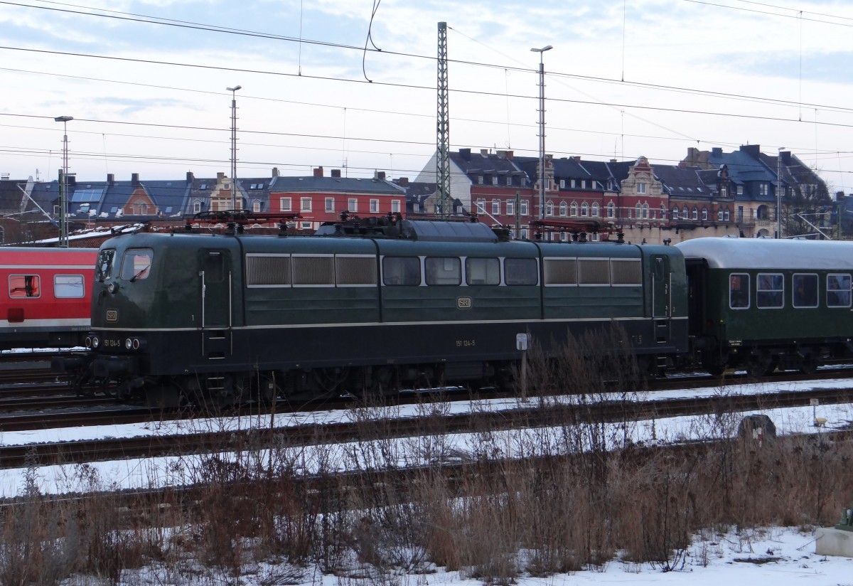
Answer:
MULTIPOLYGON (((848 388, 850 380, 821 380, 797 383, 775 384, 770 388, 765 384, 734 385, 708 387, 705 389, 689 389, 680 391, 655 392, 653 397, 697 397, 712 395, 754 394, 758 392, 805 391, 813 388, 848 388)), ((563 397, 554 397, 560 400, 563 397)), ((518 409, 523 406, 535 407, 539 399, 532 398, 526 403, 516 399, 495 399, 486 401, 453 401, 443 403, 442 407, 448 413, 462 413, 473 410, 518 409)), ((431 408, 427 406, 428 408, 431 408)), ((423 405, 407 405, 401 407, 368 409, 370 416, 386 417, 416 417, 422 415, 423 405)), ((444 412, 444 411, 443 411, 444 412)), ((820 433, 825 430, 848 427, 853 421, 853 405, 838 404, 824 405, 816 408, 803 407, 794 409, 766 409, 763 415, 768 415, 775 423, 777 433, 820 433), (815 417, 825 418, 826 424, 815 426, 815 417)), ((612 438, 628 440, 636 444, 656 444, 682 442, 699 438, 730 437, 736 431, 737 423, 743 414, 727 415, 720 421, 712 416, 684 416, 664 419, 637 421, 628 425, 608 424, 607 435, 612 438)), ((312 413, 276 414, 273 425, 276 428, 316 425, 327 423, 353 421, 360 415, 358 409, 330 410, 312 413)), ((270 415, 252 417, 220 417, 197 418, 180 421, 155 421, 119 426, 85 426, 70 428, 55 428, 47 430, 32 430, 23 432, 2 432, 0 443, 5 445, 26 445, 40 442, 67 442, 95 438, 130 438, 140 436, 165 436, 191 432, 210 432, 228 430, 247 430, 252 428, 268 429, 270 415)), ((520 457, 536 455, 560 444, 560 430, 509 430, 495 432, 490 438, 494 457, 520 457), (534 450, 540 450, 539 452, 534 450)), ((278 457, 291 462, 293 467, 304 473, 315 473, 321 466, 324 470, 353 469, 354 467, 374 468, 392 466, 421 465, 434 461, 436 457, 454 455, 464 457, 474 452, 475 447, 482 447, 482 434, 458 433, 441 437, 399 438, 393 440, 393 449, 389 450, 388 443, 383 447, 382 457, 396 457, 395 461, 371 461, 373 450, 363 450, 357 443, 316 445, 307 447, 289 447, 281 450, 278 457), (436 446, 440 451, 436 451, 436 446)), ((554 448, 555 449, 555 448, 554 448)), ((116 461, 99 461, 87 465, 86 479, 101 479, 106 489, 123 488, 162 488, 187 484, 192 481, 203 457, 209 456, 171 456, 158 458, 133 458, 116 461)), ((233 458, 234 455, 222 455, 223 458, 233 458)), ((267 453, 252 455, 258 461, 267 460, 267 453)), ((80 490, 78 469, 73 465, 57 465, 38 467, 35 471, 38 489, 45 494, 61 494, 80 490)), ((20 494, 28 471, 24 468, 9 468, 0 470, 0 498, 20 494)), ((30 476, 32 479, 32 476, 30 476)))

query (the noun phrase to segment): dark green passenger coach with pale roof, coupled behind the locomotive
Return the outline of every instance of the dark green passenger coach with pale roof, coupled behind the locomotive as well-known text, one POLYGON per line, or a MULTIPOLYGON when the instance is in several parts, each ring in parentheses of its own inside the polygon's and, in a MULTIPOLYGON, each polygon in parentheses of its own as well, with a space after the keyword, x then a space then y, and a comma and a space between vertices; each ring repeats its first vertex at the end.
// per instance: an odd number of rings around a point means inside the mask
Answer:
POLYGON ((689 334, 711 373, 808 373, 853 355, 853 242, 699 238, 676 247, 689 334))

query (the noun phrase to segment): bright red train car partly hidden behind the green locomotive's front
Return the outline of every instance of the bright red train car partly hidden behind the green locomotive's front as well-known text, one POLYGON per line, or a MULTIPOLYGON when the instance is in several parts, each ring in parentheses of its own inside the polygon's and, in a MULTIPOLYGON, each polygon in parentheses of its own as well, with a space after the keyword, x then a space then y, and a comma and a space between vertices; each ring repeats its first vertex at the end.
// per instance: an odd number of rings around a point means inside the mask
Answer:
POLYGON ((0 350, 83 345, 96 248, 0 247, 0 350))

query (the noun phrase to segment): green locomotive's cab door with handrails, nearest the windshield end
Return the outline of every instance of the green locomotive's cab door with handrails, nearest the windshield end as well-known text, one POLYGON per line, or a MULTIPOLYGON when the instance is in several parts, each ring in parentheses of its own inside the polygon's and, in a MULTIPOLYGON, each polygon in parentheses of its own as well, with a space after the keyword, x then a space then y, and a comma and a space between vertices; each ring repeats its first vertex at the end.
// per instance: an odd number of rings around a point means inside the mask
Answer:
POLYGON ((233 350, 229 252, 203 250, 199 254, 201 355, 208 360, 224 360, 233 350))

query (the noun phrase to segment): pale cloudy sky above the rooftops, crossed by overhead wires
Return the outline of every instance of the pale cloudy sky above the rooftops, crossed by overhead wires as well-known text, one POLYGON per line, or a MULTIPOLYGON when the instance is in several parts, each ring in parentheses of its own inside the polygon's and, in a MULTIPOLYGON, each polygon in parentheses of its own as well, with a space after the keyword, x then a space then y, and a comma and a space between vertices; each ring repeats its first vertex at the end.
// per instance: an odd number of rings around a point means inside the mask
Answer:
POLYGON ((530 49, 550 44, 555 157, 760 144, 853 191, 849 0, 3 2, 0 173, 55 178, 61 115, 78 181, 229 173, 240 84, 239 177, 414 178, 435 149, 442 20, 454 150, 537 154, 530 49))

